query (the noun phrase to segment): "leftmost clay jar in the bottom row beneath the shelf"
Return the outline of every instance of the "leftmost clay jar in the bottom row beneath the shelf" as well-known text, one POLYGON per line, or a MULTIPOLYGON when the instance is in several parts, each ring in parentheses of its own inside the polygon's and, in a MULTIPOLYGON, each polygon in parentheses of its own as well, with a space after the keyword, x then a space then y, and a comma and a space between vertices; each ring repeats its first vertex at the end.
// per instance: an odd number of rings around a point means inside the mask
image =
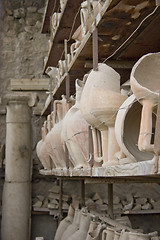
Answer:
POLYGON ((73 222, 73 218, 74 218, 74 213, 75 213, 75 209, 73 208, 72 205, 69 206, 69 210, 68 210, 68 215, 66 218, 64 218, 58 228, 57 228, 57 231, 56 231, 56 235, 55 235, 55 238, 54 240, 60 240, 62 238, 62 235, 64 233, 64 231, 67 229, 67 227, 69 225, 72 224, 73 222))

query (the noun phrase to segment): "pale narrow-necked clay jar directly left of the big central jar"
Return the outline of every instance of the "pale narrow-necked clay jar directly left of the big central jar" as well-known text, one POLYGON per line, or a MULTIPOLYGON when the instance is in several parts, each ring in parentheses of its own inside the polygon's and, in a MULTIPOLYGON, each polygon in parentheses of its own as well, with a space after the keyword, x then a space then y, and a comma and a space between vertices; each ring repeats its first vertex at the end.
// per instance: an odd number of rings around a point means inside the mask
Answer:
POLYGON ((79 110, 83 82, 76 80, 76 102, 63 119, 62 138, 68 148, 70 160, 74 168, 89 167, 88 123, 79 110))

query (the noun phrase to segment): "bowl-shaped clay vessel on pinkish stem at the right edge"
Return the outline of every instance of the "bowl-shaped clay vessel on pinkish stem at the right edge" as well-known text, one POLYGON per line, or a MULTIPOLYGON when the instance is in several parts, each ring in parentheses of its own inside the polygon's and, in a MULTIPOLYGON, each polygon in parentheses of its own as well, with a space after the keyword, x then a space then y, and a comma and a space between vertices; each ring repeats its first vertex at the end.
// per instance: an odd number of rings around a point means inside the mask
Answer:
POLYGON ((152 138, 152 112, 158 104, 160 79, 160 53, 144 55, 134 65, 130 82, 133 93, 143 105, 138 139, 141 151, 154 152, 152 138))

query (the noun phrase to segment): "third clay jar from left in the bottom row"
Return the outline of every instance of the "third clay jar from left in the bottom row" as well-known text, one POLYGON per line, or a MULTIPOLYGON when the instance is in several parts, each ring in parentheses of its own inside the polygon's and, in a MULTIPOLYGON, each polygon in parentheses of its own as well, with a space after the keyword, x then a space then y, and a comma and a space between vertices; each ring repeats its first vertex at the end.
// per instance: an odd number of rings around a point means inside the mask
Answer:
POLYGON ((89 225, 91 222, 91 216, 89 213, 84 213, 81 211, 81 219, 79 230, 76 231, 68 240, 84 240, 87 237, 87 232, 89 230, 89 225))

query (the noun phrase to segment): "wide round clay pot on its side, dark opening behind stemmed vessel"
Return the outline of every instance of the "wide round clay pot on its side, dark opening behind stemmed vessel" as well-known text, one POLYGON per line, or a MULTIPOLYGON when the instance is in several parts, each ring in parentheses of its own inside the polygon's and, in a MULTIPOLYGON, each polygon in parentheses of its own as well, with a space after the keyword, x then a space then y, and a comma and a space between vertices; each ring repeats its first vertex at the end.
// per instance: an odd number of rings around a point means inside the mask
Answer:
MULTIPOLYGON (((141 122, 142 105, 131 95, 120 106, 115 121, 115 135, 122 152, 128 157, 128 163, 145 161, 153 158, 150 152, 138 149, 137 142, 141 122)), ((156 117, 152 115, 153 127, 156 117)), ((126 161, 127 162, 127 161, 126 161)))

